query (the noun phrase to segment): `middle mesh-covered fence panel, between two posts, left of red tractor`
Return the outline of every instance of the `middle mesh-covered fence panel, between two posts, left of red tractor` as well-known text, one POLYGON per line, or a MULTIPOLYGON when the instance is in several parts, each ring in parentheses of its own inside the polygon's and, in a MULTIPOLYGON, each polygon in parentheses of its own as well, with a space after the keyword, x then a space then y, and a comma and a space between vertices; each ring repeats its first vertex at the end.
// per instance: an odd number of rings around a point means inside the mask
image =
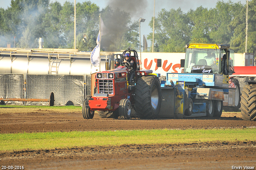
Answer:
MULTIPOLYGON (((82 105, 84 76, 58 74, 26 74, 26 98, 50 98, 54 105, 82 105)), ((27 105, 46 105, 48 102, 27 102, 27 105)))

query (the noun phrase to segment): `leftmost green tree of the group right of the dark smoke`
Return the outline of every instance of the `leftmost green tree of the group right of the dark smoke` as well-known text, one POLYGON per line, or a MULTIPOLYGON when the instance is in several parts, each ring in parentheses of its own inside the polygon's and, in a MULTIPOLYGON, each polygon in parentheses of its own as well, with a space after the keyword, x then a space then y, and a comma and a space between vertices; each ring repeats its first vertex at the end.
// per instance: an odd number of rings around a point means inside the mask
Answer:
MULTIPOLYGON (((153 28, 153 18, 149 24, 153 28)), ((190 20, 180 8, 162 11, 155 18, 155 52, 184 52, 184 44, 190 40, 190 20)), ((152 40, 152 34, 148 36, 152 40)))

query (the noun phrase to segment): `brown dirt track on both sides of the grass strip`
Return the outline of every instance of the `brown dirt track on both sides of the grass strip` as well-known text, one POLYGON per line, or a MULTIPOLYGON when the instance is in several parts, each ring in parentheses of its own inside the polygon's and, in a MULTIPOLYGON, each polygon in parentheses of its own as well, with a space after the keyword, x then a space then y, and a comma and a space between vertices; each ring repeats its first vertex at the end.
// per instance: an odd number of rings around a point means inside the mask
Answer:
MULTIPOLYGON (((0 108, 0 133, 131 129, 201 129, 256 127, 241 113, 221 118, 131 120, 82 118, 81 112, 0 108)), ((254 166, 256 141, 194 144, 122 145, 0 152, 0 166, 24 169, 227 169, 254 166)), ((1 167, 2 168, 2 167, 1 167)))

